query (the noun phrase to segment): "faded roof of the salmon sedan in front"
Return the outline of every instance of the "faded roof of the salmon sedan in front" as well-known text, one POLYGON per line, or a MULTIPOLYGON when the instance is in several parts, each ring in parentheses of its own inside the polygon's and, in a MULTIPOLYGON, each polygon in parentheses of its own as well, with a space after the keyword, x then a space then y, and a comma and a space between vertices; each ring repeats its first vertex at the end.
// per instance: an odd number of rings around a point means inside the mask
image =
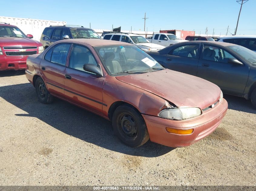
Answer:
POLYGON ((103 39, 66 39, 58 42, 71 42, 71 43, 85 43, 91 46, 105 46, 105 45, 131 45, 129 43, 115 41, 115 40, 103 40, 103 39))

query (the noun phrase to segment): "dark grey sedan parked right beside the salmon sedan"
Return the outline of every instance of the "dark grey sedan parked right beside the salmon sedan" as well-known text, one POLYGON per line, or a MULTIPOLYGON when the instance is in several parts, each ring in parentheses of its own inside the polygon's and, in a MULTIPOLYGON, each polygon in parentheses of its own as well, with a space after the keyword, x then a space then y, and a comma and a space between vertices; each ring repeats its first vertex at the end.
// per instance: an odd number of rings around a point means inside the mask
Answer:
POLYGON ((189 41, 149 55, 165 68, 211 81, 225 94, 251 99, 256 107, 256 54, 243 46, 189 41))

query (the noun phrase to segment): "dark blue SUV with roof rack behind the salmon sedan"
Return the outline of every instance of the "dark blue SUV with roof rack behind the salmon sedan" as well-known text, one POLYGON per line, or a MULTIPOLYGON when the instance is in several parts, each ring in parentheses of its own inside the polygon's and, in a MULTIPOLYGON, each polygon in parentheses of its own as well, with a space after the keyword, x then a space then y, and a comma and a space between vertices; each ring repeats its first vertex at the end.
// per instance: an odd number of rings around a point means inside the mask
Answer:
POLYGON ((58 40, 74 39, 74 38, 97 38, 101 37, 92 29, 85 28, 83 26, 64 25, 46 27, 40 38, 40 42, 43 44, 44 49, 51 46, 58 40))

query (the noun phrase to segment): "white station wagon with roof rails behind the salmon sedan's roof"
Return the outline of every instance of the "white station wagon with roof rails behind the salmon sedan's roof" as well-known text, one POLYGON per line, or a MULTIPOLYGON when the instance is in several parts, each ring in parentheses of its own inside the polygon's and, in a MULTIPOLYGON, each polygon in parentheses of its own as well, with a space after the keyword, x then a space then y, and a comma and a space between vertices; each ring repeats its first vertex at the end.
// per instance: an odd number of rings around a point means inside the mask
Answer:
POLYGON ((145 52, 154 52, 161 50, 165 48, 165 46, 161 46, 159 44, 150 43, 145 37, 142 37, 138 34, 133 33, 107 33, 104 35, 103 39, 105 40, 116 40, 116 41, 122 41, 125 43, 134 44, 135 46, 138 46, 145 52))

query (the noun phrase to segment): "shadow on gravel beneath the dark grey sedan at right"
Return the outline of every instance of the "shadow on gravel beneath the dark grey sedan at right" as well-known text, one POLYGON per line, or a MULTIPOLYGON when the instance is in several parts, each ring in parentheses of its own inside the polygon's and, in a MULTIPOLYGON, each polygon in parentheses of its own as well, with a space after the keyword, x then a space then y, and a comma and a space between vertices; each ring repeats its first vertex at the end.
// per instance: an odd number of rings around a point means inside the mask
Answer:
POLYGON ((251 104, 251 100, 227 94, 224 94, 224 99, 228 102, 228 109, 256 114, 256 108, 251 104))

